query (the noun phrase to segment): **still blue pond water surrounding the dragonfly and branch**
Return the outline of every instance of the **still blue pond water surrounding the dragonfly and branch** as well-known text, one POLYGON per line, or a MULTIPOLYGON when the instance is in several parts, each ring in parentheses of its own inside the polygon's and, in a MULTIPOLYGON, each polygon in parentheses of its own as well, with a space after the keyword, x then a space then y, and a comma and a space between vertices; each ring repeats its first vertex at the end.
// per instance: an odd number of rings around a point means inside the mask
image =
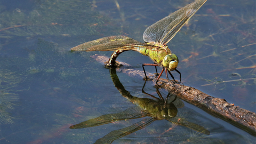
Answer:
MULTIPOLYGON (((136 107, 116 89, 109 69, 90 57, 109 57, 111 52, 73 53, 70 48, 111 35, 143 42, 148 26, 191 2, 2 0, 0 143, 94 143, 111 131, 146 123, 149 116, 69 129, 136 107)), ((207 1, 168 43, 179 57, 183 84, 255 113, 255 16, 252 0, 207 1)), ((151 63, 134 51, 122 53, 118 60, 139 70, 142 63, 151 63)), ((155 73, 155 68, 146 71, 155 73)), ((121 72, 117 76, 134 97, 151 98, 141 92, 141 77, 121 72)), ((143 90, 158 97, 154 86, 147 82, 143 90)), ((168 92, 159 92, 165 99, 168 92)), ((255 142, 250 133, 180 101, 176 118, 203 127, 209 135, 163 119, 113 143, 255 142)))

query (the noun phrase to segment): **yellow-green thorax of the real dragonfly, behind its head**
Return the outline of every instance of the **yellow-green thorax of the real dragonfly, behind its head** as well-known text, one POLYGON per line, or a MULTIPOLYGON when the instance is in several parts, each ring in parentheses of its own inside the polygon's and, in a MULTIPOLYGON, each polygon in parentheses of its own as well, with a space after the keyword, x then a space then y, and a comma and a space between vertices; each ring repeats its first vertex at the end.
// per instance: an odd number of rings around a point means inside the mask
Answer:
POLYGON ((168 48, 167 45, 165 46, 157 46, 153 49, 137 49, 138 52, 140 52, 143 55, 147 55, 152 60, 154 60, 156 63, 159 63, 162 65, 162 61, 167 54, 171 54, 171 50, 168 48))

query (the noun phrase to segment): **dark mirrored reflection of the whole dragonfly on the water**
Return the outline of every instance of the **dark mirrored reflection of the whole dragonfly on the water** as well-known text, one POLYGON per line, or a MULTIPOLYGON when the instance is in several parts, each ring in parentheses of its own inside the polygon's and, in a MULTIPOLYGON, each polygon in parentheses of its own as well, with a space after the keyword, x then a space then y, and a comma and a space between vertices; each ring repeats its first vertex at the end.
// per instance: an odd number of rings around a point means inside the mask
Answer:
MULTIPOLYGON (((100 117, 93 118, 76 125, 72 125, 69 127, 70 129, 82 129, 86 127, 99 126, 103 124, 113 123, 116 121, 142 118, 147 116, 150 118, 145 118, 138 123, 125 127, 124 129, 112 131, 105 135, 103 138, 98 139, 95 143, 111 143, 116 139, 124 137, 125 135, 143 129, 154 121, 162 119, 166 119, 167 121, 174 124, 186 126, 189 129, 195 130, 197 132, 201 132, 207 135, 210 134, 210 132, 204 127, 195 123, 188 122, 183 117, 176 116, 178 113, 177 108, 181 108, 184 106, 184 103, 176 95, 171 95, 169 93, 166 99, 163 99, 161 93, 158 90, 159 87, 157 87, 156 89, 159 98, 156 98, 154 97, 154 95, 151 94, 148 95, 150 95, 154 99, 134 97, 130 94, 129 91, 125 90, 124 86, 119 81, 116 75, 115 69, 110 69, 110 76, 120 94, 127 100, 131 101, 134 105, 136 105, 136 107, 128 108, 121 113, 102 115, 100 117)), ((143 89, 142 92, 145 93, 143 89)))

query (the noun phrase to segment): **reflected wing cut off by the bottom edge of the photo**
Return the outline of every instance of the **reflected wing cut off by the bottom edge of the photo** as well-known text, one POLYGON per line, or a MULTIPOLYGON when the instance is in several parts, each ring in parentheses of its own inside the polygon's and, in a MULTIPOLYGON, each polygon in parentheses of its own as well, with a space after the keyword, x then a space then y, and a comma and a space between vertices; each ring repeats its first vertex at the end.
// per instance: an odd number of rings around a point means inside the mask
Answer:
MULTIPOLYGON (((111 131, 107 135, 105 135, 103 138, 98 139, 95 143, 112 143, 114 140, 124 137, 125 135, 131 134, 135 131, 139 131, 143 129, 144 127, 148 126, 152 122, 154 122, 155 119, 153 118, 146 118, 142 121, 135 123, 131 126, 125 127, 124 129, 119 129, 115 131, 111 131)), ((94 144, 95 144, 94 143, 94 144)))

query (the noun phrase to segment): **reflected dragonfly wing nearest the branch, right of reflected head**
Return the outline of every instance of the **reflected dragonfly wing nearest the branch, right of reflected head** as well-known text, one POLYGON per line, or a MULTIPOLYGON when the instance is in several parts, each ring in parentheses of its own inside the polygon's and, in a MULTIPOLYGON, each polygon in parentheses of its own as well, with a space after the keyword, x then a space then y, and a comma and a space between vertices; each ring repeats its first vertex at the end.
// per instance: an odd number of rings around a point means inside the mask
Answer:
POLYGON ((207 134, 207 135, 210 134, 210 131, 205 129, 203 126, 200 126, 200 125, 195 124, 195 123, 188 122, 188 121, 186 121, 185 118, 174 117, 174 118, 166 119, 166 120, 169 121, 169 122, 172 122, 174 124, 186 126, 189 129, 192 129, 192 130, 200 132, 200 133, 204 133, 204 134, 207 134))

